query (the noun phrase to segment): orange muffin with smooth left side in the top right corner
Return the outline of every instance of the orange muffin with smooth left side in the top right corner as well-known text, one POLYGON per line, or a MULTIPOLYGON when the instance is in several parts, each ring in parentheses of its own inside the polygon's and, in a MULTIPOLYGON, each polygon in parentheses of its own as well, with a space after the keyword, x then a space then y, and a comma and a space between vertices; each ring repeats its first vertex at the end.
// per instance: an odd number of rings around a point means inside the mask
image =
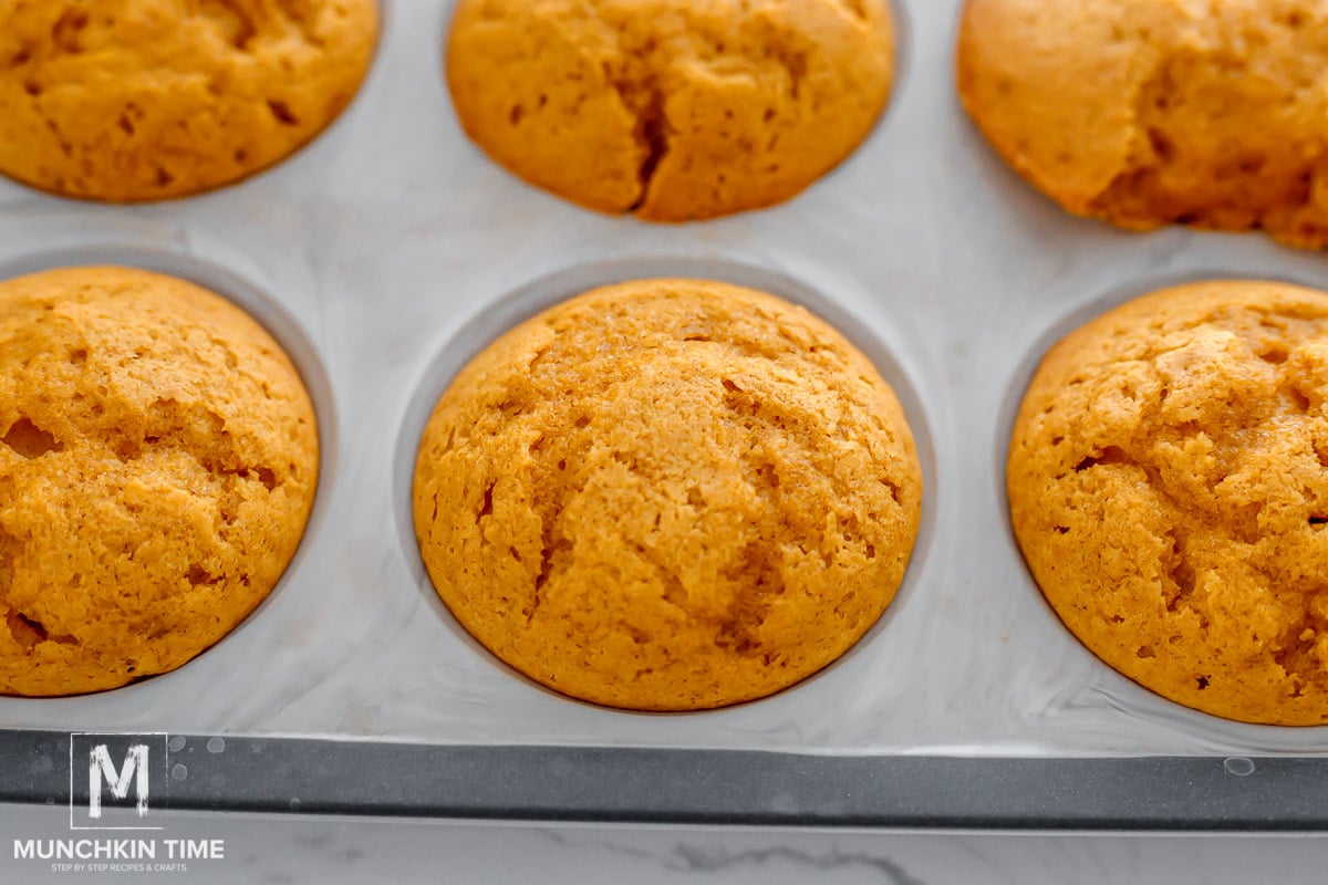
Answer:
POLYGON ((957 77, 1077 215, 1328 245, 1328 0, 968 0, 957 77))

